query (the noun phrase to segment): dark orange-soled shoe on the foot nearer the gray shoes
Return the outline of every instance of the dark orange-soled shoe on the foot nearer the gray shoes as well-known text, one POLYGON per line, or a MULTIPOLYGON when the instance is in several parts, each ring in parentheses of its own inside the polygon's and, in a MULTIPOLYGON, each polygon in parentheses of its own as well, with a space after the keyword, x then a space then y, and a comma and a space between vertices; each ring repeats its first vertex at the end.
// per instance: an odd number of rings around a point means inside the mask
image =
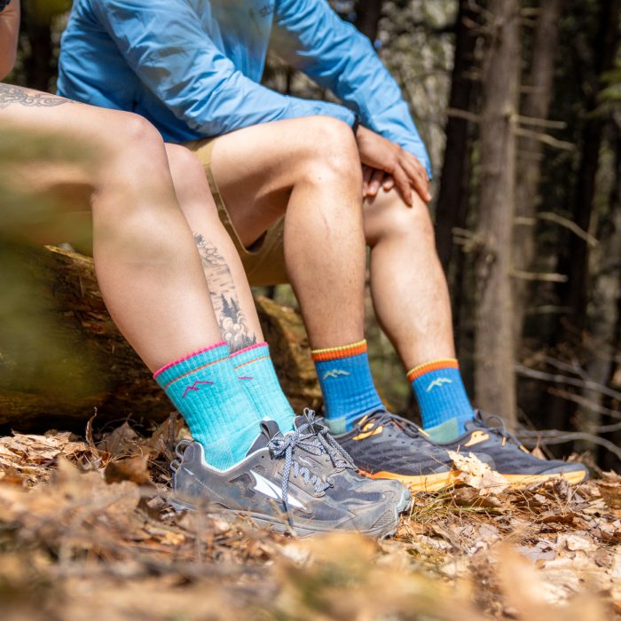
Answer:
POLYGON ((448 452, 430 442, 421 428, 386 410, 363 416, 334 440, 366 476, 397 480, 412 491, 452 487, 460 474, 448 452))

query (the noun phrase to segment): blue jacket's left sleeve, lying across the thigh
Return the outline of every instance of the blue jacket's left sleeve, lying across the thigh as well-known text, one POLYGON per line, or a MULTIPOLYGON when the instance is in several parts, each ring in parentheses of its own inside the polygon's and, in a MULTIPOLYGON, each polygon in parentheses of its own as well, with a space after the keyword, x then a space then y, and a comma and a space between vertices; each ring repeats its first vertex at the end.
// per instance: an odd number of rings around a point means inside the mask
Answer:
POLYGON ((98 0, 93 9, 145 87, 204 136, 313 114, 353 123, 344 106, 280 95, 242 75, 184 0, 98 0))

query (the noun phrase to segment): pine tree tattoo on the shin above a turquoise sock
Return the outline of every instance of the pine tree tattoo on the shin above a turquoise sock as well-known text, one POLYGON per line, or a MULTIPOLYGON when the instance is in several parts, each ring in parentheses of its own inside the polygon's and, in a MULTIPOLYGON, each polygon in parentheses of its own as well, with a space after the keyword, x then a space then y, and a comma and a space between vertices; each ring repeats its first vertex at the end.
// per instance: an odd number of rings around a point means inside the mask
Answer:
POLYGON ((240 310, 231 270, 224 256, 199 233, 194 233, 194 241, 199 249, 203 271, 211 292, 211 303, 214 305, 224 341, 228 343, 232 352, 255 345, 256 335, 251 334, 248 319, 240 310))

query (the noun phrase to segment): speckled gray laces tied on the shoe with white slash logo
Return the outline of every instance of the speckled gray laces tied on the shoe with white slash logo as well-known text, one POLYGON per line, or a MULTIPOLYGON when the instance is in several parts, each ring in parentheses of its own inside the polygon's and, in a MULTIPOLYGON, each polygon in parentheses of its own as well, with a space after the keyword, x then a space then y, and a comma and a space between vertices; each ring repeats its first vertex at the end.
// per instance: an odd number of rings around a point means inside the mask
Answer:
MULTIPOLYGON (((321 477, 312 473, 309 468, 301 466, 294 459, 294 452, 297 448, 310 452, 312 455, 323 455, 326 452, 323 441, 319 439, 322 436, 316 429, 320 426, 315 421, 315 413, 312 410, 304 410, 304 413, 307 418, 306 422, 296 428, 295 431, 287 432, 284 436, 272 437, 267 444, 273 459, 285 460, 285 468, 282 473, 282 503, 287 511, 287 518, 291 526, 293 526, 293 515, 288 503, 288 492, 289 477, 292 471, 294 477, 301 476, 305 483, 311 483, 318 494, 332 486, 332 483, 323 481, 321 477)), ((324 439, 324 441, 326 440, 324 439)))

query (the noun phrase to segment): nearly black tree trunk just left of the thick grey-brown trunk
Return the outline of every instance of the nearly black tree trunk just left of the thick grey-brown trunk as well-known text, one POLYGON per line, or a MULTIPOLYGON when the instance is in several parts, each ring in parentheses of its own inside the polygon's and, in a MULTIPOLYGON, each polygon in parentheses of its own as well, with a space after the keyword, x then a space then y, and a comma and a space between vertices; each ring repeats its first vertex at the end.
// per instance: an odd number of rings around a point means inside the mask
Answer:
MULTIPOLYGON (((455 55, 451 76, 449 107, 469 111, 473 100, 473 82, 468 75, 474 65, 477 36, 471 24, 476 12, 469 0, 462 0, 455 25, 455 55)), ((452 230, 464 228, 468 205, 471 140, 468 121, 450 115, 446 122, 446 146, 440 193, 436 208, 436 247, 444 270, 448 271, 452 255, 452 230)))

